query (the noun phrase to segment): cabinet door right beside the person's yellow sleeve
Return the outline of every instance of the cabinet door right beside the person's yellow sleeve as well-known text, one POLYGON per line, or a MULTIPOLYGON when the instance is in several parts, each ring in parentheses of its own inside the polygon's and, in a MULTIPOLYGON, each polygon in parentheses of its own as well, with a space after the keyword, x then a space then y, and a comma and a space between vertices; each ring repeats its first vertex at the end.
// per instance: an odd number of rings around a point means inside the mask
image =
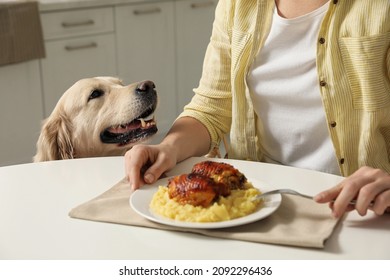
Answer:
POLYGON ((179 112, 191 100, 193 89, 199 84, 217 2, 185 0, 175 3, 179 112))

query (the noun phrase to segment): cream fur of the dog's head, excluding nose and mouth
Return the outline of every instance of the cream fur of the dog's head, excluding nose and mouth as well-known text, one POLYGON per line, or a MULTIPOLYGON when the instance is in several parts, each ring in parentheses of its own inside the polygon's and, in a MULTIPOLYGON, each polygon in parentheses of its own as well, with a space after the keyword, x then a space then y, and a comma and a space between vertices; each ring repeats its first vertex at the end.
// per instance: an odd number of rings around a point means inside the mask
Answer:
POLYGON ((100 133, 107 127, 127 123, 142 113, 143 108, 134 93, 138 84, 124 86, 113 77, 76 82, 43 121, 34 162, 123 155, 135 143, 102 143, 100 133), (88 100, 93 89, 103 90, 104 96, 88 100))

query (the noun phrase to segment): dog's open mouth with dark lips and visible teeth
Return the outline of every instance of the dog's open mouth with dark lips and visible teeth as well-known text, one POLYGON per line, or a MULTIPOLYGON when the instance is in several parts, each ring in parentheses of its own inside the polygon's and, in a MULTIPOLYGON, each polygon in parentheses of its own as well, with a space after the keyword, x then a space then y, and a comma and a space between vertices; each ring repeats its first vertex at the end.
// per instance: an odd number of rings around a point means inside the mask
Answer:
POLYGON ((156 134, 157 126, 153 111, 153 109, 150 109, 131 122, 110 126, 100 134, 101 141, 123 146, 136 143, 156 134))

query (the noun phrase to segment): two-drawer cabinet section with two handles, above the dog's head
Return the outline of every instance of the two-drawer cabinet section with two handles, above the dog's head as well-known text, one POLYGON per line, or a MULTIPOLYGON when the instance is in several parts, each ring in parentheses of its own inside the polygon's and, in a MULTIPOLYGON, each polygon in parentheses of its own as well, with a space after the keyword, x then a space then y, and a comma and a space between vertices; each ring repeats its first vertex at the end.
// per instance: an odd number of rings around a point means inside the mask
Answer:
POLYGON ((74 82, 116 76, 113 7, 42 14, 46 58, 41 60, 44 115, 74 82))

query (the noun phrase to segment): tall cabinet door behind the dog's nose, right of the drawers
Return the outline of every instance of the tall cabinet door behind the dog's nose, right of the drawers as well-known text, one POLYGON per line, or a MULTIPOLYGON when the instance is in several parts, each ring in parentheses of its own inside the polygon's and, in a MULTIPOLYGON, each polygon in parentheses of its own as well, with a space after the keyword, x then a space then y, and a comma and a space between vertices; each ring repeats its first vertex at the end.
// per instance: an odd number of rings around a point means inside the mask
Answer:
POLYGON ((156 84, 160 135, 177 116, 173 8, 173 2, 116 7, 118 74, 127 83, 156 84))

